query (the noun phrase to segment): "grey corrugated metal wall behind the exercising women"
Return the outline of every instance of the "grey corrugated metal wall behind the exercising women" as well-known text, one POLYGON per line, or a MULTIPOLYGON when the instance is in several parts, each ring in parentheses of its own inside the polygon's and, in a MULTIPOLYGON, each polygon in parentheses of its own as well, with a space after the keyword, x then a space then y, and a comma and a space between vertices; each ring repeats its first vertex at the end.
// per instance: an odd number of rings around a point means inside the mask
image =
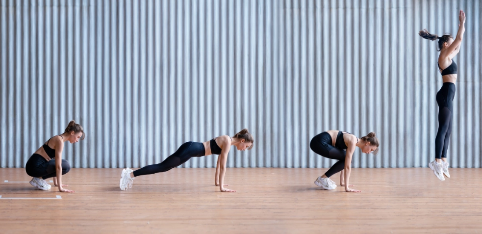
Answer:
MULTIPOLYGON (((249 128, 229 167, 329 167, 324 130, 377 132, 354 167, 434 157, 442 85, 436 42, 466 11, 454 167, 481 167, 479 0, 0 0, 0 166, 28 157, 71 119, 75 167, 158 163, 185 141, 249 128)), ((185 167, 213 167, 215 156, 185 167)))

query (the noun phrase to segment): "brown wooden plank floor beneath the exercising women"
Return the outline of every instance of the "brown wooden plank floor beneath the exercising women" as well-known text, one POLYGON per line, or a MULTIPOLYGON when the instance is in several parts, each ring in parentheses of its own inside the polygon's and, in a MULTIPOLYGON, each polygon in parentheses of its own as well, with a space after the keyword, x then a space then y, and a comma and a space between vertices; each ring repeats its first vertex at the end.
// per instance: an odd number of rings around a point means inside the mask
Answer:
POLYGON ((228 168, 237 192, 222 193, 214 169, 138 177, 127 191, 121 169, 72 169, 68 194, 3 168, 0 233, 482 233, 482 169, 451 168, 441 182, 428 168, 355 168, 362 193, 320 189, 313 181, 325 171, 228 168))

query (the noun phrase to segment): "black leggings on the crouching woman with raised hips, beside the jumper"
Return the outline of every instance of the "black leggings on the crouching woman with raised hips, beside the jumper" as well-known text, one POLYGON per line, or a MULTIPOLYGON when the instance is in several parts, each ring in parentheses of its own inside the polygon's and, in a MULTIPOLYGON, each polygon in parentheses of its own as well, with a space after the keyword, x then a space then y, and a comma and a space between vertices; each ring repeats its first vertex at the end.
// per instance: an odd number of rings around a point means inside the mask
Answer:
POLYGON ((345 168, 345 157, 347 155, 346 151, 338 149, 331 144, 331 136, 326 131, 313 137, 313 139, 311 139, 311 142, 309 143, 309 147, 316 154, 339 160, 335 164, 333 164, 333 166, 331 166, 330 170, 325 173, 325 176, 327 177, 330 177, 345 168))

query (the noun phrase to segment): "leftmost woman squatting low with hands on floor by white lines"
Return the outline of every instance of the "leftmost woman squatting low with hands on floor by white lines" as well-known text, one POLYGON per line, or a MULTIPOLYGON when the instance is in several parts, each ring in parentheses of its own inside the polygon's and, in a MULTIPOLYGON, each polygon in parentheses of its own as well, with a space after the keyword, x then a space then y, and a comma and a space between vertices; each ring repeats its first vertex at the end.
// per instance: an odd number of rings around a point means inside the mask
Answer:
POLYGON ((53 136, 35 151, 25 165, 27 175, 33 177, 30 184, 41 190, 49 190, 51 185, 45 179, 53 177, 53 184, 58 186, 60 192, 75 192, 63 188, 68 185, 62 184, 62 175, 70 171, 70 164, 67 160, 62 159, 62 150, 64 142, 69 141, 74 144, 80 137, 82 140, 85 138, 84 130, 82 126, 72 120, 64 133, 53 136))

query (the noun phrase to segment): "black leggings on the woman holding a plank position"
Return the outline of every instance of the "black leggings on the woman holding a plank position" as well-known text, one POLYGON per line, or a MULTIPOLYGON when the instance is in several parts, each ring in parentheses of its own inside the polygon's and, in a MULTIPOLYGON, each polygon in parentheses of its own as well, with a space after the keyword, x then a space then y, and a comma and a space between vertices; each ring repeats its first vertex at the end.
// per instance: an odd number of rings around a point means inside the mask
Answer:
POLYGON ((203 143, 188 141, 182 144, 179 149, 167 157, 164 161, 159 164, 152 164, 145 166, 139 170, 133 172, 134 177, 151 175, 158 172, 169 171, 182 163, 189 160, 191 157, 201 157, 204 156, 205 149, 203 143))

